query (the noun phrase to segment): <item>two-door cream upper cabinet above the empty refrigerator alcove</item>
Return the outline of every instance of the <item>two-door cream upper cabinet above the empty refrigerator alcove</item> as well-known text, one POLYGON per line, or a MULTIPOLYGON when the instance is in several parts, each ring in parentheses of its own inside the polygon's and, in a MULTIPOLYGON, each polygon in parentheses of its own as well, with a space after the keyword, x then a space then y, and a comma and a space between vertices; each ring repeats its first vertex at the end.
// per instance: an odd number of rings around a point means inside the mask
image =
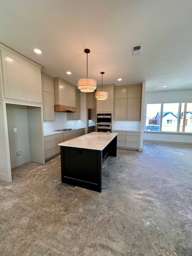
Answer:
POLYGON ((4 97, 42 103, 41 68, 1 48, 4 97))

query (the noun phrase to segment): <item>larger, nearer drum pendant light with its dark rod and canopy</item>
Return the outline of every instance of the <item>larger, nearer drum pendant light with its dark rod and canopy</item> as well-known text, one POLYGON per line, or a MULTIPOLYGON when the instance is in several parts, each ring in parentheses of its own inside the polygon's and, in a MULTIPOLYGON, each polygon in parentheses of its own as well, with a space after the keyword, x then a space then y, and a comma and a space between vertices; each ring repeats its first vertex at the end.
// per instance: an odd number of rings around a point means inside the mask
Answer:
MULTIPOLYGON (((90 53, 90 50, 85 49, 84 52, 88 54, 90 53)), ((97 88, 97 81, 95 79, 88 78, 88 76, 87 78, 81 78, 78 80, 78 88, 81 92, 94 92, 97 88)))

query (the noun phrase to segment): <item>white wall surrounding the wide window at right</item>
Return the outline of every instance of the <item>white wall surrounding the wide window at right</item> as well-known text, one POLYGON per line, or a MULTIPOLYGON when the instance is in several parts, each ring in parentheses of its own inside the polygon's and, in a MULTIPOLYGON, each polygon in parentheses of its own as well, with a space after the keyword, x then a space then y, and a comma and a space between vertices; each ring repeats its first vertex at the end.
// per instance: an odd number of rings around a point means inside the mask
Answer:
MULTIPOLYGON (((145 119, 147 103, 192 102, 192 90, 174 92, 151 92, 145 94, 145 119)), ((145 127, 145 122, 144 122, 145 127)), ((144 132, 144 141, 168 143, 192 143, 192 134, 144 132)))

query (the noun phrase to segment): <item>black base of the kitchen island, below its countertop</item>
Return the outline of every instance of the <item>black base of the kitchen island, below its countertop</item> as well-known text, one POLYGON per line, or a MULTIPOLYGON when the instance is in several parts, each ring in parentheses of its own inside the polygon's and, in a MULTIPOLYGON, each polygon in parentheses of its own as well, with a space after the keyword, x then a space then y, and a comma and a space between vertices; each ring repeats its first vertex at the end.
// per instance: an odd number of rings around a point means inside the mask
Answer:
POLYGON ((102 191, 102 164, 117 156, 117 136, 101 151, 61 146, 61 182, 102 191))

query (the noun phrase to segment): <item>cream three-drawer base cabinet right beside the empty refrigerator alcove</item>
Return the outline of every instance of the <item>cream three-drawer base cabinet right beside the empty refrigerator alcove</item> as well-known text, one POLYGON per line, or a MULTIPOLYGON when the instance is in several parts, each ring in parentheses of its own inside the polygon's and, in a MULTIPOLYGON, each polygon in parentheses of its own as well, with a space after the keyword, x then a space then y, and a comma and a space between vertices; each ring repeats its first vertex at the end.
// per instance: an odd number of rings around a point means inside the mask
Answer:
POLYGON ((59 134, 44 137, 45 160, 48 160, 60 153, 59 134))

